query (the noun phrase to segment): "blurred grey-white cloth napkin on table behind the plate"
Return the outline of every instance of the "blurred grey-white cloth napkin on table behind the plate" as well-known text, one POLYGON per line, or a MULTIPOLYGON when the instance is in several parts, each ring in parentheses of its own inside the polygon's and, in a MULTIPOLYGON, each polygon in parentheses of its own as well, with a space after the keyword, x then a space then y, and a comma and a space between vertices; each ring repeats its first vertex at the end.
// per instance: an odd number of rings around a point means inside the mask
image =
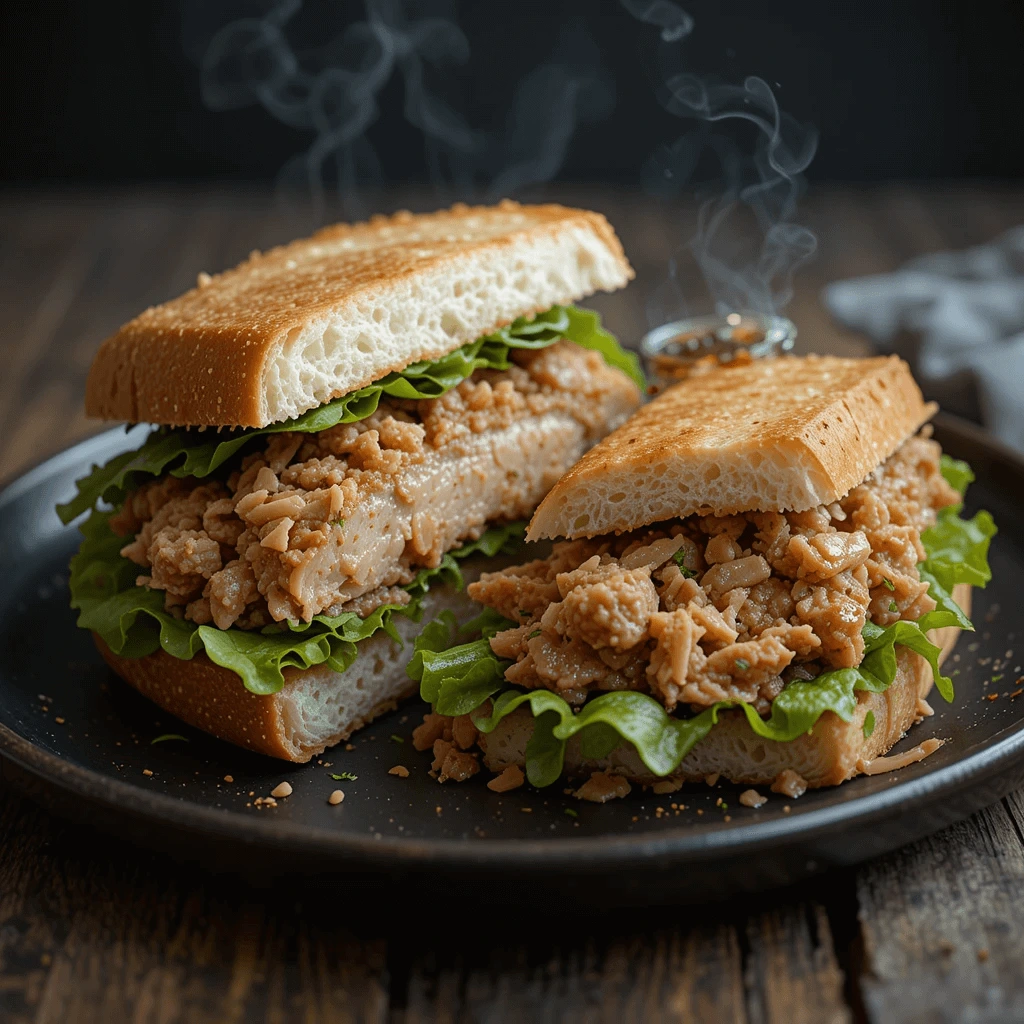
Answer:
POLYGON ((976 389, 985 425, 1024 452, 1024 226, 895 273, 835 282, 822 298, 840 323, 909 359, 951 411, 966 411, 976 389))

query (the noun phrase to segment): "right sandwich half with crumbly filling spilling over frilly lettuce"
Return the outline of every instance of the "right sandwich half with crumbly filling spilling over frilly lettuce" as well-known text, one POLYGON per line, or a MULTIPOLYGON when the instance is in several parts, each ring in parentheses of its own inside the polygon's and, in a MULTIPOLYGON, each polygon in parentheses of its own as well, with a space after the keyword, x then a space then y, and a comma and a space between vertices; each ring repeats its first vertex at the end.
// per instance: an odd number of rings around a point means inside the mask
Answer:
POLYGON ((933 686, 952 699, 941 660, 995 532, 959 514, 973 477, 931 436, 935 411, 896 356, 668 388, 541 503, 527 538, 550 552, 469 587, 480 638, 446 620, 417 641, 432 711, 414 739, 437 777, 797 796, 930 753, 884 758, 933 686))

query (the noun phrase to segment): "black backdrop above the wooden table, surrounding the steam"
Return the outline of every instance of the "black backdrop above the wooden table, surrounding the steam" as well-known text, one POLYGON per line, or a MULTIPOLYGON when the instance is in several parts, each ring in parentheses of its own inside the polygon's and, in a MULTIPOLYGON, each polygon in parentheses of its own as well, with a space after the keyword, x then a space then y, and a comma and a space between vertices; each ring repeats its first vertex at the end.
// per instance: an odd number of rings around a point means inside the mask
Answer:
MULTIPOLYGON (((106 0, 5 5, 0 43, 4 144, 0 179, 95 183, 272 180, 313 133, 258 105, 204 105, 200 62, 216 30, 272 4, 106 0)), ((741 80, 758 74, 780 103, 820 131, 811 181, 1018 177, 1024 4, 865 0, 782 4, 690 0, 693 34, 675 51, 686 69, 741 80)), ((442 68, 446 94, 475 126, 500 130, 513 84, 556 52, 559 28, 586 32, 613 100, 579 125, 558 171, 566 180, 636 184, 659 142, 683 125, 657 103, 659 59, 672 47, 614 0, 462 0, 449 9, 471 47, 442 68)), ((289 25, 296 49, 316 49, 360 19, 356 0, 314 2, 289 25)), ((607 97, 606 97, 607 98, 607 97)), ((369 139, 384 181, 429 177, 422 135, 402 118, 395 77, 378 96, 369 139)), ((543 103, 534 103, 534 109, 543 103)), ((586 105, 586 104, 585 104, 586 105)), ((541 112, 543 113, 543 112, 541 112)), ((585 112, 587 113, 587 112, 585 112)))

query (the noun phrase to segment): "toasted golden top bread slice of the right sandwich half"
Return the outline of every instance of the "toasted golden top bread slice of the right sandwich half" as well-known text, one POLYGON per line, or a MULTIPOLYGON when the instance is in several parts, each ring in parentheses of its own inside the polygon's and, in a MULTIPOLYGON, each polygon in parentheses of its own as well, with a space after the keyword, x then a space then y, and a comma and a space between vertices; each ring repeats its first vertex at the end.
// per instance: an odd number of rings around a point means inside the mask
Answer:
POLYGON ((541 503, 527 538, 827 505, 935 412, 895 355, 718 367, 669 388, 591 449, 541 503))

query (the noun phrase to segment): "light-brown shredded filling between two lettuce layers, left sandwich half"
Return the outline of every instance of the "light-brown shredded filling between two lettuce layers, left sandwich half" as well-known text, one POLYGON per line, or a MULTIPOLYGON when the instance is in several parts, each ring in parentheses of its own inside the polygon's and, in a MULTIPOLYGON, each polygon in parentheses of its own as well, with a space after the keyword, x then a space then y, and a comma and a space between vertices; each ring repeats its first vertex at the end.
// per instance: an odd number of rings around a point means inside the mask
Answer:
MULTIPOLYGON (((527 516, 635 406, 634 386, 578 345, 513 358, 440 398, 388 399, 357 423, 272 434, 224 480, 139 487, 111 520, 131 538, 124 556, 168 609, 219 629, 402 603, 396 588, 419 568, 489 522, 527 516)), ((532 597, 516 585, 522 607, 557 599, 555 577, 580 561, 547 564, 532 597)))

